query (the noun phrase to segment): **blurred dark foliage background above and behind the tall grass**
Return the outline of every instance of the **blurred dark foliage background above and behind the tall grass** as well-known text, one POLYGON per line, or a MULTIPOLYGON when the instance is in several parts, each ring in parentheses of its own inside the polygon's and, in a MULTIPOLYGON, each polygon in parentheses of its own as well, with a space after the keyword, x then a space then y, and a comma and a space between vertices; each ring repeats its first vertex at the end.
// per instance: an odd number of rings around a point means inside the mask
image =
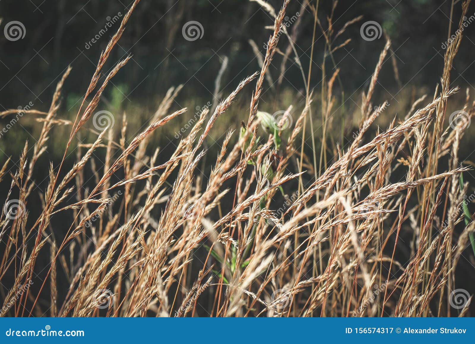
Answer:
MULTIPOLYGON (((0 15, 1 29, 11 20, 21 21, 26 28, 24 39, 10 42, 0 37, 2 49, 0 71, 1 110, 24 106, 29 100, 47 108, 57 80, 68 65, 73 67, 66 84, 69 108, 74 105, 92 75, 100 51, 119 26, 114 26, 92 44, 85 45, 104 28, 107 17, 118 12, 125 14, 130 0, 3 0, 0 15), (72 81, 71 81, 72 80, 72 81), (26 101, 28 100, 28 101, 26 101)), ((275 8, 280 0, 271 0, 275 8)), ((287 10, 289 17, 300 9, 302 0, 295 0, 287 10)), ((352 42, 335 54, 344 88, 362 89, 371 76, 384 39, 366 42, 361 39, 360 27, 367 20, 379 22, 393 41, 393 51, 399 68, 402 85, 427 85, 433 87, 439 81, 450 18, 450 0, 345 0, 335 9, 333 26, 338 31, 343 24, 359 15, 363 19, 352 25, 344 39, 352 42), (371 43, 371 44, 370 44, 371 43)), ((316 3, 316 1, 311 1, 316 3)), ((452 28, 458 23, 459 8, 455 6, 452 28)), ((319 19, 323 29, 328 29, 326 17, 331 11, 331 1, 320 1, 319 19)), ((313 16, 304 10, 302 25, 296 39, 296 48, 302 58, 304 70, 308 69, 313 30, 313 16)), ((469 14, 473 14, 469 10, 469 14)), ((185 84, 183 94, 209 98, 214 88, 221 59, 229 58, 224 85, 236 86, 244 76, 258 69, 257 60, 248 44, 254 39, 264 52, 264 42, 270 30, 272 18, 256 2, 244 0, 142 0, 135 10, 127 29, 114 49, 111 61, 133 55, 133 60, 114 79, 117 90, 128 101, 150 101, 172 85, 185 84), (204 28, 202 39, 190 42, 183 38, 184 23, 196 20, 204 28)), ((461 49, 473 50, 475 28, 469 26, 461 49)), ((323 59, 324 39, 317 28, 315 67, 313 78, 321 78, 317 67, 323 59)), ((284 37, 281 49, 287 41, 284 37)), ((475 66, 473 56, 457 56, 452 81, 457 85, 471 84, 475 66), (463 77, 459 76, 464 74, 463 77)), ((280 61, 274 63, 271 74, 277 75, 280 61)), ((297 90, 304 88, 298 68, 290 60, 283 85, 297 90)), ((111 62, 112 66, 112 62, 111 62)), ((334 66, 329 65, 329 69, 334 66)), ((380 77, 381 86, 391 94, 398 92, 398 84, 390 68, 380 77)), ((109 97, 112 97, 109 95, 109 97)), ((106 96, 107 100, 107 96, 106 96)), ((68 108, 68 109, 69 109, 68 108)))

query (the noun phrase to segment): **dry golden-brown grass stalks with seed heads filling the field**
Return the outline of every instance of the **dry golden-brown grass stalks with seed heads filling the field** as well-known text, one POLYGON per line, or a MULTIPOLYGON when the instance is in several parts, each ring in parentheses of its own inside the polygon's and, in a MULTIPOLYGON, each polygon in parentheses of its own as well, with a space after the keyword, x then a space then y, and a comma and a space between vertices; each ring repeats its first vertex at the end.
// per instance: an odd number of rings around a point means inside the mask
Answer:
MULTIPOLYGON (((449 305, 457 263, 475 227, 471 222, 461 234, 455 230, 464 220, 462 202, 467 189, 459 187, 459 175, 467 170, 458 160, 464 127, 445 127, 447 102, 458 91, 449 87, 450 71, 462 36, 447 48, 441 84, 432 99, 418 99, 405 118, 394 118, 386 130, 371 133, 371 123, 390 111, 386 103, 373 109, 371 101, 388 59, 388 40, 362 94, 360 129, 343 149, 329 134, 337 102, 333 88, 341 82, 339 70, 327 76, 325 63, 321 109, 313 108, 311 80, 305 77, 310 70, 304 71, 295 56, 306 85, 306 101, 300 114, 294 114, 293 128, 283 129, 283 121, 258 111, 264 81, 272 84, 266 72, 275 53, 281 53, 279 39, 295 37, 298 23, 292 32, 282 26, 290 0, 278 11, 265 1, 254 1, 275 18, 266 55, 259 56, 260 73, 243 80, 212 112, 203 110, 171 154, 148 144, 157 128, 186 116, 186 108, 170 113, 181 87, 170 89, 146 129, 131 141, 125 139, 124 115, 116 118, 122 125, 119 138, 106 128, 91 144, 74 147, 78 133, 89 130, 86 123, 110 79, 129 59, 120 61, 97 88, 104 63, 139 0, 101 54, 76 120, 57 118, 70 69, 58 83, 49 111, 28 112, 38 116, 43 126, 32 156, 27 157, 27 142, 18 170, 8 173, 10 160, 0 170, 0 181, 11 178, 7 210, 0 217, 4 249, 0 281, 8 286, 1 291, 1 315, 467 314, 468 304, 456 313, 449 305), (230 129, 219 142, 218 157, 210 156, 204 143, 217 118, 242 88, 254 82, 246 123, 230 129), (307 122, 313 125, 309 118, 318 112, 324 123, 322 149, 317 151, 312 134, 313 156, 307 156, 305 128, 307 122), (71 128, 66 151, 55 168, 51 164, 42 204, 31 204, 35 163, 44 154, 55 125, 71 128), (263 130, 266 136, 259 137, 263 130), (334 157, 328 156, 330 147, 334 157), (101 149, 105 158, 98 169, 94 153, 101 149), (152 154, 147 155, 150 150, 152 154), (77 162, 65 171, 66 152, 71 151, 77 152, 77 162), (159 155, 167 154, 167 162, 156 163, 159 155), (206 176, 198 168, 204 163, 212 166, 206 176), (94 187, 85 187, 86 168, 95 172, 94 187), (405 178, 393 182, 395 170, 405 178), (16 213, 11 200, 20 205, 16 213), (68 218, 69 223, 53 225, 57 216, 68 218), (403 245, 403 227, 412 231, 411 242, 404 244, 410 249, 409 261, 399 261, 397 254, 403 245), (45 255, 50 263, 38 272, 38 257, 45 255), (38 274, 44 278, 38 281, 38 274), (20 289, 24 290, 21 294, 20 289)), ((463 15, 469 2, 462 4, 463 15)), ((304 1, 303 6, 310 5, 304 1)), ((322 27, 318 9, 312 10, 315 29, 322 27)), ((323 30, 325 56, 332 58, 336 49, 348 44, 337 39, 360 19, 336 33, 333 28, 323 30)), ((332 18, 328 20, 331 27, 332 18)), ((282 66, 292 53, 296 54, 291 43, 281 53, 282 66)), ((285 68, 281 70, 278 82, 285 68)), ((474 105, 467 91, 466 103, 458 108, 472 117, 474 105)), ((0 117, 15 111, 2 112, 0 117)))

